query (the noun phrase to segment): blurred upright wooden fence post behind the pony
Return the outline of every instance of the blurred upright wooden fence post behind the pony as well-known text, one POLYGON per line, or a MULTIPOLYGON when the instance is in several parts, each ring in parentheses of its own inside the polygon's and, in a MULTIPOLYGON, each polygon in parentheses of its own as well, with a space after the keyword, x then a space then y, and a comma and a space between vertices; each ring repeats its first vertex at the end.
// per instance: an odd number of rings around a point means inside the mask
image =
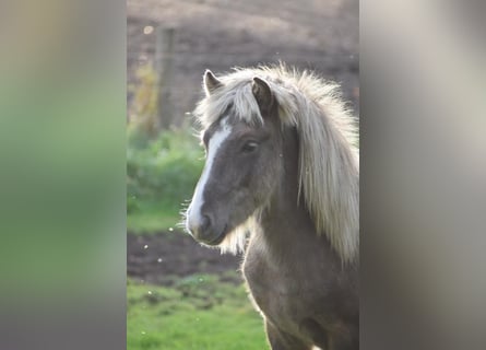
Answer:
POLYGON ((157 74, 157 130, 173 124, 174 103, 170 91, 174 83, 174 28, 158 26, 155 35, 155 71, 157 74))

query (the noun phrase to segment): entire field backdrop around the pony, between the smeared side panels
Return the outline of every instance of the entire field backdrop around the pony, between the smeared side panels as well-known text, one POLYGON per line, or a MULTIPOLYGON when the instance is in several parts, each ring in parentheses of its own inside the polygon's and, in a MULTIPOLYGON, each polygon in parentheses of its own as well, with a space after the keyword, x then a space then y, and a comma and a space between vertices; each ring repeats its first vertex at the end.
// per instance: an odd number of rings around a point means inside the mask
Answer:
POLYGON ((128 349, 264 349, 240 256, 180 226, 203 167, 191 112, 205 69, 284 61, 358 114, 358 1, 128 0, 128 349))

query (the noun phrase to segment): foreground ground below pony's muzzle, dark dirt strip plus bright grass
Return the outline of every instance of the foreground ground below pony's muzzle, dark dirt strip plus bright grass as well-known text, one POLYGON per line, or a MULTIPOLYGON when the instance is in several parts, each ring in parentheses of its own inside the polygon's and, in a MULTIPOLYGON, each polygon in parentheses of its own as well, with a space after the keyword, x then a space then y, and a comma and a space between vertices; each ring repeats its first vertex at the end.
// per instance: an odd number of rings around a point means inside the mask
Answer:
POLYGON ((181 232, 128 235, 128 349, 265 349, 239 257, 181 232))

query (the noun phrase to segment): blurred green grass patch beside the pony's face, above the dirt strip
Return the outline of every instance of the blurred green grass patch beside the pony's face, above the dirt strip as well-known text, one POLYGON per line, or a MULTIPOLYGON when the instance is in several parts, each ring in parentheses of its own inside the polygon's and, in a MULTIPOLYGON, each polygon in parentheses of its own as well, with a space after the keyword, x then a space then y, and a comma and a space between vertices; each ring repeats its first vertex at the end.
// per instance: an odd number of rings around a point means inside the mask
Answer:
POLYGON ((190 130, 165 130, 150 138, 128 128, 127 225, 133 233, 175 228, 182 203, 204 165, 204 153, 190 130))

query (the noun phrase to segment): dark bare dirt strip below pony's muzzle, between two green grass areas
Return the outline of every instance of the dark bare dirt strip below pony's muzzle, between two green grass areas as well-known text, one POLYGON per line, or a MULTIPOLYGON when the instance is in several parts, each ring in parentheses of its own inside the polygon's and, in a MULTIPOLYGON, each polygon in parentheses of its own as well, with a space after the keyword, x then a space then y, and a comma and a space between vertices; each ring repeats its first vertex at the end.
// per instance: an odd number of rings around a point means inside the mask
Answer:
MULTIPOLYGON (((194 273, 237 271, 240 260, 240 256, 202 247, 182 232, 129 233, 127 236, 128 276, 146 283, 170 285, 175 279, 194 273)), ((223 280, 241 282, 238 276, 223 273, 223 280)))

